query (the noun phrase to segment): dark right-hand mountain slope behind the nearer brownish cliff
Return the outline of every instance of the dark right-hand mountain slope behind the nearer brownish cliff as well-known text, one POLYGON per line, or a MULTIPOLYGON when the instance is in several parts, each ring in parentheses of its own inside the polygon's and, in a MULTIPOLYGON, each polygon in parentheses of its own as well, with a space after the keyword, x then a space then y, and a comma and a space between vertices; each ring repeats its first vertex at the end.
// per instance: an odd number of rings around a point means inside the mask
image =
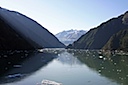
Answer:
MULTIPOLYGON (((77 41, 75 41, 73 44, 70 44, 68 48, 102 49, 107 44, 107 42, 112 38, 112 36, 116 35, 116 33, 118 34, 119 31, 127 28, 128 28, 128 12, 116 18, 112 18, 102 23, 98 27, 90 29, 86 34, 81 36, 77 41)), ((117 37, 117 38, 118 40, 120 39, 120 37, 117 37)), ((121 40, 120 42, 123 42, 123 41, 121 40)), ((112 42, 112 43, 115 44, 115 42, 112 42)), ((121 46, 121 44, 118 46, 121 46)), ((114 49, 113 47, 110 47, 110 48, 114 49)))

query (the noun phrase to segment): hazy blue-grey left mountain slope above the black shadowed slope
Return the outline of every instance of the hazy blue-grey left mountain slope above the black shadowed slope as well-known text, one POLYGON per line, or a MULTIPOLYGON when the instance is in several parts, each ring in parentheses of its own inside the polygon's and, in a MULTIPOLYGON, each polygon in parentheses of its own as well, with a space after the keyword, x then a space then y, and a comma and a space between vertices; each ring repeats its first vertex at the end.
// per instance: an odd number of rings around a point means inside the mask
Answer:
POLYGON ((0 7, 0 19, 35 48, 65 47, 47 29, 23 14, 0 7))

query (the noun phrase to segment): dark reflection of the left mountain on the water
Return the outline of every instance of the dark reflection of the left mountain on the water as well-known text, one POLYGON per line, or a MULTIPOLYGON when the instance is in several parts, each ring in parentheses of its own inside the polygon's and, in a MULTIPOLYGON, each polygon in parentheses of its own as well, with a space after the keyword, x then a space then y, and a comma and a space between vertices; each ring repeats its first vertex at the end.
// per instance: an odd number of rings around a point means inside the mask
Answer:
POLYGON ((56 57, 55 54, 34 51, 13 52, 4 52, 1 55, 0 84, 20 81, 47 65, 56 57))

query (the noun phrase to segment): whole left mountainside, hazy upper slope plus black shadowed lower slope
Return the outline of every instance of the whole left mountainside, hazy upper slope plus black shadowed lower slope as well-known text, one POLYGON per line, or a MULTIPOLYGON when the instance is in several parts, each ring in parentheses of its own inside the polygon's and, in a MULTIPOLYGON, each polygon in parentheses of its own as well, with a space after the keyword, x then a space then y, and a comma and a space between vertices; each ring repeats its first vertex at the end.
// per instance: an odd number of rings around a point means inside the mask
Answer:
POLYGON ((30 48, 27 47, 28 44, 34 48, 65 47, 65 45, 47 29, 21 13, 0 8, 0 20, 3 26, 0 29, 4 31, 0 36, 0 49, 4 49, 2 46, 8 49, 15 49, 15 47, 16 49, 28 49, 30 48), (10 34, 8 33, 11 33, 13 38, 9 36, 10 34), (2 35, 4 35, 4 37, 2 35), (8 39, 12 39, 12 41, 8 39), (26 44, 20 42, 19 39, 26 44), (21 46, 18 46, 19 43, 21 46))

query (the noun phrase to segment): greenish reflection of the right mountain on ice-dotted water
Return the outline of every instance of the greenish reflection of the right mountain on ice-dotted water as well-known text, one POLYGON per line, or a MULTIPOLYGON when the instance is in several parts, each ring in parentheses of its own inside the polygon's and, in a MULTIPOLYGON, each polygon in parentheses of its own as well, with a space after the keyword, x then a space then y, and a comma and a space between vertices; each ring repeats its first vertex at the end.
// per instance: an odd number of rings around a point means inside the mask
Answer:
POLYGON ((112 79, 121 85, 128 85, 128 56, 113 54, 102 55, 101 58, 101 54, 96 51, 79 51, 75 52, 75 55, 82 63, 97 71, 101 76, 112 79))

